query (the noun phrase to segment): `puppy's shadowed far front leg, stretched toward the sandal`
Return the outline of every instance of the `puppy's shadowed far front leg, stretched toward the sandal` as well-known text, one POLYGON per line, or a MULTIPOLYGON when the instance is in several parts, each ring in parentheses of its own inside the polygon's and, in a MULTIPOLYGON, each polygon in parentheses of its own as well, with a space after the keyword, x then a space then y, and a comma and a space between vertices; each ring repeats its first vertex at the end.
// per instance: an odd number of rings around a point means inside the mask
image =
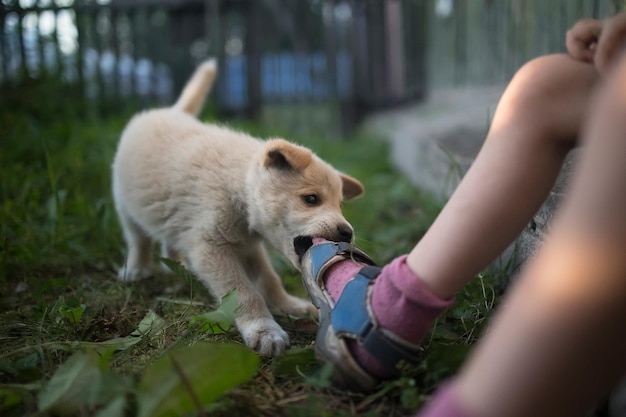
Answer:
POLYGON ((267 251, 262 244, 246 260, 248 275, 257 289, 263 294, 267 304, 274 311, 294 316, 310 314, 317 316, 317 309, 311 302, 295 297, 285 291, 283 283, 272 267, 267 251))

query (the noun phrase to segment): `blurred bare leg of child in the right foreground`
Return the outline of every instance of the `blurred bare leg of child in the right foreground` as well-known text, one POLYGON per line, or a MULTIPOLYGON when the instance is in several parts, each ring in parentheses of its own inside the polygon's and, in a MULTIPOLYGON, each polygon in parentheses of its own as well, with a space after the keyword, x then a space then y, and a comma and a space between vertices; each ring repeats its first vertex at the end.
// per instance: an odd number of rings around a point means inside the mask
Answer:
POLYGON ((594 101, 580 165, 549 239, 456 382, 457 402, 470 415, 582 416, 623 375, 624 114, 626 60, 594 101))

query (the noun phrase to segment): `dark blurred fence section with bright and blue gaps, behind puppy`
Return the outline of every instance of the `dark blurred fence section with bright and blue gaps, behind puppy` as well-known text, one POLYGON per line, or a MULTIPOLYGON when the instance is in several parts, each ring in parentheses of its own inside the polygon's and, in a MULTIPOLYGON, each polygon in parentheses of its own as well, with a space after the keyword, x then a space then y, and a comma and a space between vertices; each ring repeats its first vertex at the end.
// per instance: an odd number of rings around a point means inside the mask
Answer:
MULTIPOLYGON (((4 0, 0 80, 52 74, 92 103, 171 102, 217 56, 216 101, 258 115, 274 103, 339 104, 343 124, 419 98, 423 42, 402 42, 410 0, 4 0)), ((418 24, 417 27, 421 27, 418 24)))

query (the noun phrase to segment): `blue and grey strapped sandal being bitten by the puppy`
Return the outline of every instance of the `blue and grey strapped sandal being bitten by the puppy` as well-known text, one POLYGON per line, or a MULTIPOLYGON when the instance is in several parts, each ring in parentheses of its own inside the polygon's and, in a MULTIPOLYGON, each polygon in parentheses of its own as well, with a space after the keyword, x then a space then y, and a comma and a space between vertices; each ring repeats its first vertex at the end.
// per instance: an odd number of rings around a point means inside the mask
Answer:
POLYGON ((347 340, 355 340, 387 369, 399 377, 415 369, 419 346, 392 332, 381 329, 370 306, 371 289, 381 268, 361 249, 346 242, 323 242, 302 255, 302 279, 315 307, 319 309, 319 332, 315 353, 323 363, 333 366, 333 383, 354 391, 371 391, 380 382, 354 359, 347 340), (342 260, 353 259, 364 266, 333 302, 322 277, 328 268, 342 260))

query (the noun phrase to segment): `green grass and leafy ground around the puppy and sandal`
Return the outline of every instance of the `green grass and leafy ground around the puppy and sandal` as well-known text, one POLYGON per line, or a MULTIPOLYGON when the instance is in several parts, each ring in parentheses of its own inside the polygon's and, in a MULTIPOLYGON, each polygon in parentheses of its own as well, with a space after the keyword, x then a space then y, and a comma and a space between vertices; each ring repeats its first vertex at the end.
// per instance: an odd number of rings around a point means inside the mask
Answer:
MULTIPOLYGON (((185 271, 117 281, 125 251, 109 169, 129 113, 95 117, 77 94, 30 82, 7 88, 0 101, 3 416, 406 415, 457 369, 485 327, 497 297, 481 275, 439 320, 412 376, 356 394, 329 385, 313 356, 311 320, 278 317, 292 348, 259 358, 242 347, 229 304, 218 307, 185 271)), ((287 136, 361 179, 366 195, 347 202, 345 214, 357 244, 381 264, 410 250, 440 208, 393 170, 380 138, 233 123, 260 137, 287 136)), ((274 255, 288 290, 304 296, 297 271, 274 255)))

